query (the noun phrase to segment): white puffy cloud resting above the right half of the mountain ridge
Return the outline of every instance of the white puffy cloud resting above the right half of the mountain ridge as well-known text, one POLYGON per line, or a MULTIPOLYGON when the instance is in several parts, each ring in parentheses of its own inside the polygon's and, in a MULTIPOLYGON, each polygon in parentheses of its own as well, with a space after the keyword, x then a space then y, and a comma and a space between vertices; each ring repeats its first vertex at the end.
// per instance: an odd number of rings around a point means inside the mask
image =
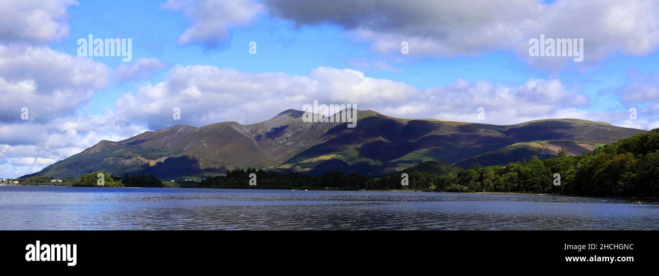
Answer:
POLYGON ((519 87, 492 82, 455 80, 449 86, 429 88, 416 101, 405 101, 386 111, 401 117, 432 118, 490 124, 515 124, 536 119, 571 118, 587 105, 587 97, 568 90, 559 80, 531 79, 519 87), (478 109, 484 120, 477 118, 478 109))

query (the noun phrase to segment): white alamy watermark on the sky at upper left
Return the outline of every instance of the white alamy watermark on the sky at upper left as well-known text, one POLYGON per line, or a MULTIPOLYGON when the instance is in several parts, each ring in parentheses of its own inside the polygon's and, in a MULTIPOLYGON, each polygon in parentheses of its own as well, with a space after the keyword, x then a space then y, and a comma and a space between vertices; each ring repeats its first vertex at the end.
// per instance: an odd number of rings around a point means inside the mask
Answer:
POLYGON ((78 57, 122 57, 121 61, 132 61, 132 38, 78 39, 78 57))

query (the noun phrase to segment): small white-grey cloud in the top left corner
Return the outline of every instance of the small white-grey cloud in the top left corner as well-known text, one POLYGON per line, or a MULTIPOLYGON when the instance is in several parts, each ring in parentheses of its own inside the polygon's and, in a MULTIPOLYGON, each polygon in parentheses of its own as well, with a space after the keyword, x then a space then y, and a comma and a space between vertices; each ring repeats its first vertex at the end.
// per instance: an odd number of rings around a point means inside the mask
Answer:
POLYGON ((4 0, 0 5, 0 41, 44 43, 69 34, 67 7, 72 0, 4 0))

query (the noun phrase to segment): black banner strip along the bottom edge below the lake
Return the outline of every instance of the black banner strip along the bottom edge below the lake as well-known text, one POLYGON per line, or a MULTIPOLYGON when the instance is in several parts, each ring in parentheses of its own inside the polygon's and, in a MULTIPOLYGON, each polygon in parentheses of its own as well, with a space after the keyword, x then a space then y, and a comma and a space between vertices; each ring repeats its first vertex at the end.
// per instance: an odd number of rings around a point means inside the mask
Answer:
POLYGON ((3 267, 78 272, 217 265, 254 269, 266 264, 337 268, 351 263, 380 269, 394 263, 390 269, 418 265, 636 269, 656 263, 659 244, 652 231, 3 231, 0 235, 3 267), (49 260, 57 259, 57 250, 64 252, 59 260, 49 260))

